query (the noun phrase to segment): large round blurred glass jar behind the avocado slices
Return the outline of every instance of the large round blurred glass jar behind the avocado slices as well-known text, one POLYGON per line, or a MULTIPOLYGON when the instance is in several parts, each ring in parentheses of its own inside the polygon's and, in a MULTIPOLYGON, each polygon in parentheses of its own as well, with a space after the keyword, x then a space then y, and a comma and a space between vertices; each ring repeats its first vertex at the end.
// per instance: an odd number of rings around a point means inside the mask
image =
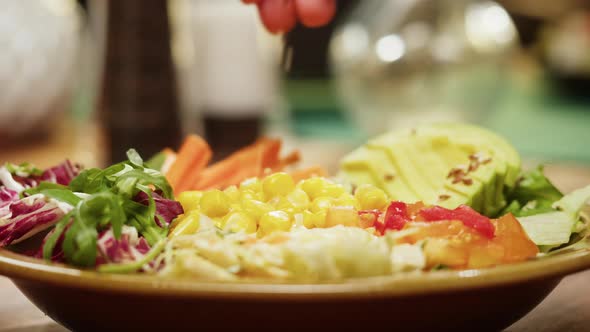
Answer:
POLYGON ((424 122, 481 122, 517 32, 495 2, 360 1, 330 45, 335 82, 368 134, 424 122))

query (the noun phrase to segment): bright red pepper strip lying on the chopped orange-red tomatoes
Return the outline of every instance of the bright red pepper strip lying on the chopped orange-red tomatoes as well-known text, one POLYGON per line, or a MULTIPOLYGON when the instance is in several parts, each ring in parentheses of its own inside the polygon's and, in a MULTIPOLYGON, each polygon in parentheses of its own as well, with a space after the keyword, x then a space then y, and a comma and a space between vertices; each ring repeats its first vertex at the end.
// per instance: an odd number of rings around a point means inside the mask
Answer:
POLYGON ((461 205, 449 210, 440 206, 423 208, 419 212, 425 221, 459 220, 465 226, 471 227, 487 238, 493 238, 495 228, 489 218, 482 216, 467 205, 461 205))

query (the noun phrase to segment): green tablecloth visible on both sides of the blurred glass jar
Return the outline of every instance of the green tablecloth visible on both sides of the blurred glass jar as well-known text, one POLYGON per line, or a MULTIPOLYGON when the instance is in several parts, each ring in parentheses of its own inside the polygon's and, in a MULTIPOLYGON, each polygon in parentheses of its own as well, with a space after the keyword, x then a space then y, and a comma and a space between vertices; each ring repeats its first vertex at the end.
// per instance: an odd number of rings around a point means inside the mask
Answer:
MULTIPOLYGON (((588 100, 560 95, 546 79, 528 85, 507 82, 504 89, 484 126, 510 140, 527 159, 590 164, 588 100)), ((289 82, 285 93, 296 134, 358 144, 366 139, 337 103, 330 104, 337 99, 329 82, 289 82)))

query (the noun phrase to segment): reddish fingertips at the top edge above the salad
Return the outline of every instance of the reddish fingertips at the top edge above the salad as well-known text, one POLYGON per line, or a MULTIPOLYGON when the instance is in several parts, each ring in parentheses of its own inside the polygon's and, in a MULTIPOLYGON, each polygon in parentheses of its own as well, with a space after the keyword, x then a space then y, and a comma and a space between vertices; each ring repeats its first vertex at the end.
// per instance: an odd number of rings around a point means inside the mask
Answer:
POLYGON ((271 33, 289 32, 297 21, 307 27, 328 24, 336 12, 336 0, 242 0, 258 6, 262 23, 271 33))

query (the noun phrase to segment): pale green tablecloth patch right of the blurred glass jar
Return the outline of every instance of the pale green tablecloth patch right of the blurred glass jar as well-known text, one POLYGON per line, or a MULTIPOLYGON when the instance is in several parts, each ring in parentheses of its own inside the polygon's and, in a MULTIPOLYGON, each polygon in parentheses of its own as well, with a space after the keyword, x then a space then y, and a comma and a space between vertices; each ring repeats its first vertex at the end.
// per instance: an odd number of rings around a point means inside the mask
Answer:
POLYGON ((487 125, 526 157, 590 163, 590 102, 559 95, 549 83, 507 91, 487 125))

